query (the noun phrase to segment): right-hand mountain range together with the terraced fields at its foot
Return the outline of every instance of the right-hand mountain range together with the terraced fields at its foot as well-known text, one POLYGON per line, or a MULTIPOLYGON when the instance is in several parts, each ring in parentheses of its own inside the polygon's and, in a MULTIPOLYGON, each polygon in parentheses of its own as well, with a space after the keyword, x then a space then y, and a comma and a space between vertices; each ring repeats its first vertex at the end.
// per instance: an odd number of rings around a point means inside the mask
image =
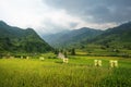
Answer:
POLYGON ((86 54, 131 57, 131 22, 106 30, 80 28, 45 38, 55 48, 79 49, 86 54), (49 38, 48 38, 49 37, 49 38), (56 38, 57 37, 57 38, 56 38), (52 39, 53 40, 52 40, 52 39), (56 44, 56 45, 53 45, 56 44))

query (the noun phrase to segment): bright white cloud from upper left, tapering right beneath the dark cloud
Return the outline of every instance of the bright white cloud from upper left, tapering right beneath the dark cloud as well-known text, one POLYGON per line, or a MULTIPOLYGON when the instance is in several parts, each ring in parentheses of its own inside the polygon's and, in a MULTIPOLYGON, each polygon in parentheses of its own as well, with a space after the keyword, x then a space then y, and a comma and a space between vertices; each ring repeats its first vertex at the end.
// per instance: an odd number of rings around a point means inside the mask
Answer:
MULTIPOLYGON (((92 16, 88 16, 92 17, 92 16)), ((94 24, 83 21, 80 16, 70 15, 63 9, 53 9, 44 3, 43 0, 0 0, 0 20, 10 25, 22 28, 33 27, 38 33, 57 32, 62 28, 107 28, 116 26, 111 24, 94 24), (75 26, 70 24, 74 23, 75 26)))

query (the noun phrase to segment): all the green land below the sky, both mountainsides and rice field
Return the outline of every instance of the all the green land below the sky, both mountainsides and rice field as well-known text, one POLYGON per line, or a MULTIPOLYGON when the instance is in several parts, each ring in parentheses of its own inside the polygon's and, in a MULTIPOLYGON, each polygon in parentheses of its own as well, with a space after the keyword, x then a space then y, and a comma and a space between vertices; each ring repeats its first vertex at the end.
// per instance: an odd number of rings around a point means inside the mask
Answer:
POLYGON ((32 28, 0 22, 0 87, 130 87, 130 34, 131 23, 105 32, 67 32, 53 37, 60 46, 53 54, 32 28), (69 63, 57 59, 59 51, 69 63), (102 60, 102 66, 94 66, 94 60, 102 60), (111 69, 109 60, 118 60, 119 66, 111 69))

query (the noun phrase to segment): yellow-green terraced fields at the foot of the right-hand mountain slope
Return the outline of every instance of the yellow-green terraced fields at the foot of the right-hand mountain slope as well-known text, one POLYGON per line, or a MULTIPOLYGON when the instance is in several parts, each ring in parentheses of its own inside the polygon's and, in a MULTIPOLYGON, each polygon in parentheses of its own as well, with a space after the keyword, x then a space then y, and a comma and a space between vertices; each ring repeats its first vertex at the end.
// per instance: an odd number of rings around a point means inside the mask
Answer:
POLYGON ((115 48, 102 48, 96 45, 87 45, 86 49, 75 49, 76 54, 80 55, 95 55, 95 57, 122 57, 131 58, 131 50, 128 49, 115 49, 115 48))

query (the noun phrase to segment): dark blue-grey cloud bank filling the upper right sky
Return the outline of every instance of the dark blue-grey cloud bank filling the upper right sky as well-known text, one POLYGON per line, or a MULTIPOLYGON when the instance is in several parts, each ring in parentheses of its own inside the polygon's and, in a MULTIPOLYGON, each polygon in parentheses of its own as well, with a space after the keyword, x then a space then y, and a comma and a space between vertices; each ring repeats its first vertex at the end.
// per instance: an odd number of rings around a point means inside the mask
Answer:
POLYGON ((46 0, 46 2, 93 23, 121 23, 131 20, 131 0, 46 0), (88 16, 92 16, 92 20, 88 16))

